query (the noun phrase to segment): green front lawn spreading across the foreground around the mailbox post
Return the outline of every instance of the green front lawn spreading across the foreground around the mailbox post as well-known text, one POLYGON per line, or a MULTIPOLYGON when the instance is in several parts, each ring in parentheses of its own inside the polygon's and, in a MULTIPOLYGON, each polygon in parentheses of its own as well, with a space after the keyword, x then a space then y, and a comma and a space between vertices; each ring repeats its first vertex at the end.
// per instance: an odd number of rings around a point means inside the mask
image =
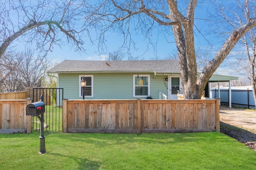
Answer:
POLYGON ((0 134, 0 169, 256 169, 256 152, 222 133, 0 134))

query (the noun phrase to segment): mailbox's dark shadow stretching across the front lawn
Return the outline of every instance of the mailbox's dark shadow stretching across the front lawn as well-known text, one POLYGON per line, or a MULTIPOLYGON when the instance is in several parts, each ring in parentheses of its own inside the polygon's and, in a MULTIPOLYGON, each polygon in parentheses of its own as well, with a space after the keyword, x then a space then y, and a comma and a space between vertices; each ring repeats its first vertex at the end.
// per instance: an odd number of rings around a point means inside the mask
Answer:
POLYGON ((60 153, 48 153, 48 155, 64 157, 68 159, 72 159, 78 164, 78 170, 98 170, 100 168, 100 162, 88 160, 86 158, 78 158, 77 156, 67 156, 60 153))

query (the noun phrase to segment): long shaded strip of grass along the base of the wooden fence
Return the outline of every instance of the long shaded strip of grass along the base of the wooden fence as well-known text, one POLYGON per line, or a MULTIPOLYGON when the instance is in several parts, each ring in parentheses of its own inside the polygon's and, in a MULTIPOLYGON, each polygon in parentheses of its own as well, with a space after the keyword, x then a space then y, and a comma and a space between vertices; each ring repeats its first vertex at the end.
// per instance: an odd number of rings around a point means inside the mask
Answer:
POLYGON ((97 145, 98 147, 116 146, 116 145, 137 145, 144 144, 163 144, 170 143, 189 143, 189 142, 209 142, 218 139, 225 141, 226 137, 217 132, 204 133, 143 133, 137 134, 116 134, 116 133, 63 133, 54 135, 56 139, 64 141, 62 145, 68 145, 73 142, 87 143, 97 145))

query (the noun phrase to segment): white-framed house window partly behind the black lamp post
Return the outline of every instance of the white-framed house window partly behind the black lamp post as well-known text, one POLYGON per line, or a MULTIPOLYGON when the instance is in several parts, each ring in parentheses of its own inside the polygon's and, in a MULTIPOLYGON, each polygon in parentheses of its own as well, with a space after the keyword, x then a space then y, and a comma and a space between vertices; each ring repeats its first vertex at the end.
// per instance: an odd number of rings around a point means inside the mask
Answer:
POLYGON ((82 87, 81 80, 82 77, 86 79, 86 86, 84 88, 84 97, 91 98, 93 97, 93 75, 79 75, 79 97, 82 97, 82 87))

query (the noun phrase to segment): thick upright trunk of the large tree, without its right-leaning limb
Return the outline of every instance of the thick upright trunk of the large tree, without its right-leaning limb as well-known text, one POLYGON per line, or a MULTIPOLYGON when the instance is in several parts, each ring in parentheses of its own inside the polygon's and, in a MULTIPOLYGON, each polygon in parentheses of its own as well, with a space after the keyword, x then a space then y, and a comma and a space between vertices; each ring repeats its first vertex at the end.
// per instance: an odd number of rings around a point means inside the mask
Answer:
POLYGON ((193 30, 196 0, 190 1, 190 8, 188 8, 186 15, 187 18, 184 18, 179 13, 177 4, 174 1, 170 0, 168 3, 170 6, 170 20, 179 22, 178 25, 172 25, 172 31, 178 50, 183 96, 184 99, 200 99, 199 87, 196 84, 197 66, 193 30))

